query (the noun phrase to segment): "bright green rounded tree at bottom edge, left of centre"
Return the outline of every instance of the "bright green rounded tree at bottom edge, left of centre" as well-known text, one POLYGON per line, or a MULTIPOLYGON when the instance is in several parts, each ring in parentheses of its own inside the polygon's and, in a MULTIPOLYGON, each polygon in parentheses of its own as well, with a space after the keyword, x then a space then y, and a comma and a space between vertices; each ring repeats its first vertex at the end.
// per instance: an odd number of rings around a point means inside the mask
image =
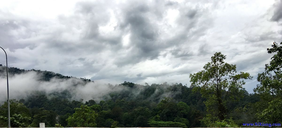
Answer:
POLYGON ((81 105, 80 108, 75 108, 75 113, 67 118, 70 127, 96 127, 95 111, 91 110, 87 105, 81 105))

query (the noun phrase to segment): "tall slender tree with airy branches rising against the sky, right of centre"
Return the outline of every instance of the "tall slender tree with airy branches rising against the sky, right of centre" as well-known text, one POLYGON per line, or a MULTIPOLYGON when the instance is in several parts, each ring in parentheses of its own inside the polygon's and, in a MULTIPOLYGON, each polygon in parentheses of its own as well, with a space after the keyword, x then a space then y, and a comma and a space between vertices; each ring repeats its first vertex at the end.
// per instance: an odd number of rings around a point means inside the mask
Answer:
MULTIPOLYGON (((194 91, 200 90, 205 101, 207 120, 224 120, 227 109, 226 100, 228 97, 238 99, 240 93, 244 91, 242 85, 245 79, 252 79, 249 73, 240 72, 236 74, 236 65, 224 62, 226 56, 221 52, 216 52, 203 68, 204 70, 190 74, 191 87, 194 91), (234 95, 230 95, 231 92, 234 95), (217 109, 217 111, 214 111, 217 109)), ((208 123, 208 122, 206 122, 208 123)))

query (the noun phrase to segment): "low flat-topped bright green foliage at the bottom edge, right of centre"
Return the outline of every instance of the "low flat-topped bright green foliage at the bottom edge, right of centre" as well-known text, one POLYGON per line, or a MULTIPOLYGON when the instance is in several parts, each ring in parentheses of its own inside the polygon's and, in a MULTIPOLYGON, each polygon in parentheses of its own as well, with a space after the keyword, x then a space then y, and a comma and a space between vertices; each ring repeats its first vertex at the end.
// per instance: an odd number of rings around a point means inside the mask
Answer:
POLYGON ((180 122, 172 122, 172 121, 148 121, 148 124, 151 127, 182 127, 182 128, 188 128, 184 123, 180 122))

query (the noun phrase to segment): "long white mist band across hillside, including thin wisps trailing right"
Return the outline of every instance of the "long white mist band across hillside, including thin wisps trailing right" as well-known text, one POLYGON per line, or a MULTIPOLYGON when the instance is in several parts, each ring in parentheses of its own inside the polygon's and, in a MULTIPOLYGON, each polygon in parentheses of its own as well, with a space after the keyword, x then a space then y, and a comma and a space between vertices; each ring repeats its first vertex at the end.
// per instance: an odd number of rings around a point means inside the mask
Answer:
MULTIPOLYGON (((3 73, 4 74, 4 73, 3 73)), ((131 98, 135 98, 140 93, 146 91, 146 86, 140 85, 132 89, 127 86, 116 86, 105 83, 104 81, 85 82, 75 77, 61 79, 57 77, 51 78, 49 81, 43 81, 43 74, 33 70, 29 70, 20 74, 9 74, 9 97, 10 99, 27 99, 32 96, 33 92, 40 91, 46 93, 48 98, 52 98, 56 93, 70 92, 69 100, 83 101, 95 100, 100 102, 110 98, 110 93, 126 91, 131 98)), ((0 104, 7 100, 7 83, 6 75, 0 77, 0 104)), ((163 99, 164 97, 173 97, 181 93, 180 90, 174 92, 166 92, 170 85, 164 83, 164 86, 155 89, 154 93, 147 100, 163 99), (161 91, 162 90, 162 91, 161 91)))

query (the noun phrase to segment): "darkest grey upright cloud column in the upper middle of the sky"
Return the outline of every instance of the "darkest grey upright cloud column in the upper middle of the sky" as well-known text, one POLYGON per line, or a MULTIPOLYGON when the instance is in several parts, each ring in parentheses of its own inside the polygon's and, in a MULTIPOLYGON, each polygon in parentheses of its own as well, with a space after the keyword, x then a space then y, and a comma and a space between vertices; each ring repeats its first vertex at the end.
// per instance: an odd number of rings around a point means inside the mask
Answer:
POLYGON ((130 6, 124 9, 124 19, 120 28, 129 27, 131 47, 133 48, 131 53, 122 59, 123 61, 118 61, 120 65, 138 63, 144 59, 158 57, 159 49, 163 46, 158 41, 158 28, 149 19, 149 17, 157 16, 154 11, 154 8, 150 8, 147 3, 140 5, 130 3, 130 6))

